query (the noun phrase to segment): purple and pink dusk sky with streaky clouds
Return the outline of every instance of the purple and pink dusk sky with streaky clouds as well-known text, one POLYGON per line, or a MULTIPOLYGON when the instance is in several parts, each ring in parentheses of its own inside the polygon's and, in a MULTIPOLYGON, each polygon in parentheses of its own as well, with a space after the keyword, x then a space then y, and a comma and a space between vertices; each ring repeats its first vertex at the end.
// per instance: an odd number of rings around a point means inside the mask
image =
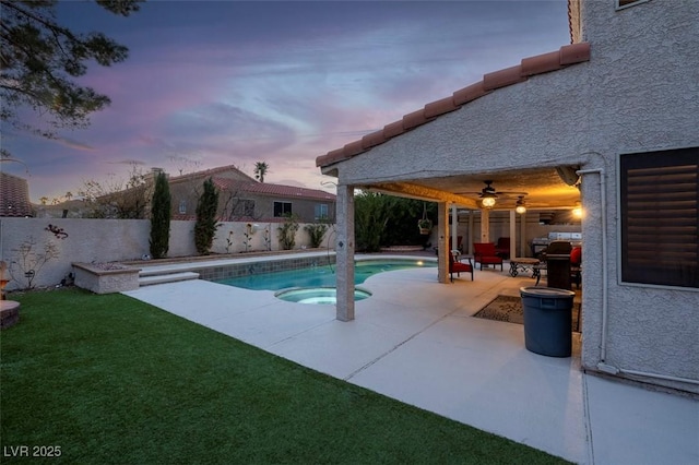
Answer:
POLYGON ((567 1, 149 1, 129 17, 60 2, 59 22, 130 49, 81 82, 111 98, 85 130, 7 132, 33 202, 130 163, 170 175, 236 165, 323 187, 316 157, 450 96, 483 74, 570 44, 567 1))

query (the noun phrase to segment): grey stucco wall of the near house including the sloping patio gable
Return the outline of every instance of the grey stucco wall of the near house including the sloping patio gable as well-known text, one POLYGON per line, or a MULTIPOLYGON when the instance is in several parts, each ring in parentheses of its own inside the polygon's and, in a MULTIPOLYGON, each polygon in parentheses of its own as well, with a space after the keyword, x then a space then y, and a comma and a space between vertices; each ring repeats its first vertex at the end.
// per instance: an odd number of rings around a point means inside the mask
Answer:
POLYGON ((597 0, 580 12, 589 62, 498 88, 333 168, 340 186, 363 186, 579 165, 583 367, 699 392, 699 289, 621 283, 617 220, 619 154, 699 146, 699 2, 597 0))

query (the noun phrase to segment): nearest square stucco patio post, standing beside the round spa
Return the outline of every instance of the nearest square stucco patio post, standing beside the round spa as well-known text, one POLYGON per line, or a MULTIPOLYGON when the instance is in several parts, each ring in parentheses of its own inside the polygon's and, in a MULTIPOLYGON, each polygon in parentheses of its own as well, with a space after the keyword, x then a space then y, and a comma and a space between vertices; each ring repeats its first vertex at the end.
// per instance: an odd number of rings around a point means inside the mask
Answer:
POLYGON ((354 187, 337 186, 336 318, 354 320, 354 187))

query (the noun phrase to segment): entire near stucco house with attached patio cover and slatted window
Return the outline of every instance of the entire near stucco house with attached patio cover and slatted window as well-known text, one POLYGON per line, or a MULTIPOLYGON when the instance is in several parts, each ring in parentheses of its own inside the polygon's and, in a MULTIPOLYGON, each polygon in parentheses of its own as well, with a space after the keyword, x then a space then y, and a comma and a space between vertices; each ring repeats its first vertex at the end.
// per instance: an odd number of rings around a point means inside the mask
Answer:
MULTIPOLYGON (((699 393, 699 2, 570 0, 572 45, 525 58, 318 157, 337 178, 337 318, 354 319, 352 195, 481 217, 486 180, 582 220, 585 370, 699 393)), ((500 195, 493 207, 513 204, 500 195)), ((476 274, 477 279, 477 274, 476 274)))

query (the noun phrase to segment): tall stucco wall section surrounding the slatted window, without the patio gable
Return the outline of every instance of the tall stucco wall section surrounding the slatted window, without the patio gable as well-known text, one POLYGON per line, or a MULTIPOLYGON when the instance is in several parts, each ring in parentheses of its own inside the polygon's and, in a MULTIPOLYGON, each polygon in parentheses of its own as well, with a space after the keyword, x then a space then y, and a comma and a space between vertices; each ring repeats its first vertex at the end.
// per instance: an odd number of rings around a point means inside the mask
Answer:
MULTIPOLYGON (((607 172, 608 321, 605 363, 627 371, 699 380, 699 289, 623 284, 617 218, 619 154, 699 146, 699 3, 654 0, 624 10, 584 2, 582 37, 591 43, 588 147, 607 172)), ((585 186, 585 196, 599 189, 585 186)), ((585 243, 593 224, 583 224, 585 243)), ((589 311, 582 361, 600 358, 602 314, 589 311)), ((633 377, 632 374, 630 374, 633 377)), ((639 377, 643 378, 643 377, 639 377)), ((690 389, 695 384, 655 379, 690 389)))

